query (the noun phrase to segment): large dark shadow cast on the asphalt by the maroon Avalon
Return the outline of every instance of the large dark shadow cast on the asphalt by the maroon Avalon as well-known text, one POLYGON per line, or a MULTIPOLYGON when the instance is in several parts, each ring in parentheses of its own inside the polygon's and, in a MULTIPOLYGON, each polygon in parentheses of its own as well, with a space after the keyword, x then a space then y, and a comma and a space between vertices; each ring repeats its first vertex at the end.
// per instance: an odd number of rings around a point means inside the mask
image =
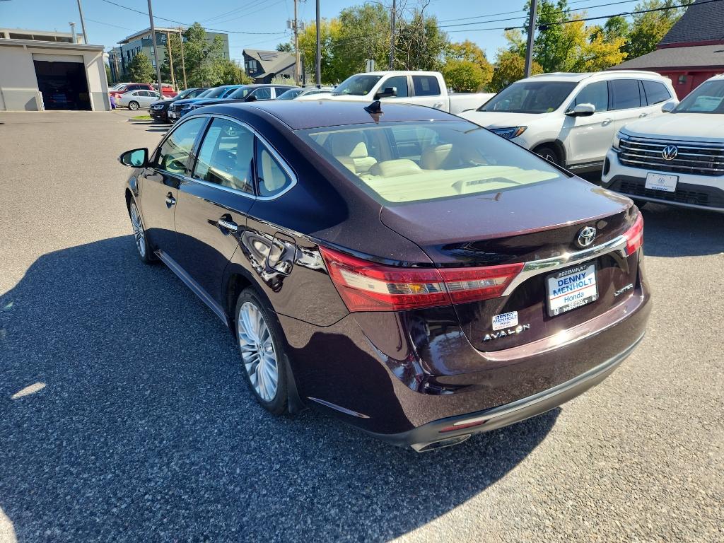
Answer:
POLYGON ((38 258, 0 296, 0 361, 0 510, 22 542, 385 541, 500 481, 560 413, 424 454, 271 416, 230 332, 130 235, 38 258))

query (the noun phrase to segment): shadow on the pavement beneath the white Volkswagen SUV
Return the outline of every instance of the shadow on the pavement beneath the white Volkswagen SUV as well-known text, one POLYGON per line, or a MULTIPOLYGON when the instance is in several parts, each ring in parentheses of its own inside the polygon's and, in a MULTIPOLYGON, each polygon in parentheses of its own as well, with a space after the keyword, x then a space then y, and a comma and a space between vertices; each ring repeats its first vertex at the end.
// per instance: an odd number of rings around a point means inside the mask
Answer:
POLYGON ((647 203, 644 214, 644 254, 702 256, 724 253, 724 214, 647 203))

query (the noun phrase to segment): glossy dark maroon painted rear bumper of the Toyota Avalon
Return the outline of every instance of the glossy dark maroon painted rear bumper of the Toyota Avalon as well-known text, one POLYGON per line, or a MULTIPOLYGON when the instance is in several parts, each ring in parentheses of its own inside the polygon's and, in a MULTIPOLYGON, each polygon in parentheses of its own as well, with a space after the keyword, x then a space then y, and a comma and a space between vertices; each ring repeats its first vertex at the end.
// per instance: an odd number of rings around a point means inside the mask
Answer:
POLYGON ((473 348, 442 310, 353 313, 329 327, 286 316, 279 321, 303 403, 382 439, 413 445, 450 420, 497 413, 474 430, 483 432, 548 411, 592 387, 607 375, 602 369, 613 370, 643 336, 649 302, 639 273, 631 294, 605 313, 492 352, 473 348), (508 413, 511 405, 523 407, 508 413))

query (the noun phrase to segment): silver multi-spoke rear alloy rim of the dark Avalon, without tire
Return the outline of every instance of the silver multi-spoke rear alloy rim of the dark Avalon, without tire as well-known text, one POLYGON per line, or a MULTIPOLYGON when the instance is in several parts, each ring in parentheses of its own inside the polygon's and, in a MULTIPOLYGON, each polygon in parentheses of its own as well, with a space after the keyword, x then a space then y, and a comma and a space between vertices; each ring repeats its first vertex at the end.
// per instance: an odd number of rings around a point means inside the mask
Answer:
POLYGON ((277 395, 279 365, 269 327, 255 304, 244 302, 241 306, 237 334, 251 386, 262 400, 271 402, 277 395))

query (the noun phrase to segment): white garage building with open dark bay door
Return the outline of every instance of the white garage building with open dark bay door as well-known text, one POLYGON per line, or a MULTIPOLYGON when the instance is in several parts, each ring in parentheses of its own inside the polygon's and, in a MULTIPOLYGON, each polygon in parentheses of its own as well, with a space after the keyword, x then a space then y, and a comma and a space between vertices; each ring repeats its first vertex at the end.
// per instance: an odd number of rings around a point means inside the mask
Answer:
POLYGON ((0 111, 111 109, 103 46, 5 35, 0 35, 0 111))

